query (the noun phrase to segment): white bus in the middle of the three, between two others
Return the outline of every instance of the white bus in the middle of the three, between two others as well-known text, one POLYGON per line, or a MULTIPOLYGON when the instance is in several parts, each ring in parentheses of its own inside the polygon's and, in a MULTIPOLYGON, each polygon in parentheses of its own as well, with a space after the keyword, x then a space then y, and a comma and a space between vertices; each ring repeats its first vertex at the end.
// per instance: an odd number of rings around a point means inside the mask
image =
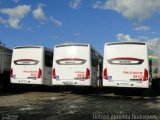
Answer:
POLYGON ((102 56, 90 45, 64 43, 54 47, 52 84, 92 86, 100 84, 102 56))

